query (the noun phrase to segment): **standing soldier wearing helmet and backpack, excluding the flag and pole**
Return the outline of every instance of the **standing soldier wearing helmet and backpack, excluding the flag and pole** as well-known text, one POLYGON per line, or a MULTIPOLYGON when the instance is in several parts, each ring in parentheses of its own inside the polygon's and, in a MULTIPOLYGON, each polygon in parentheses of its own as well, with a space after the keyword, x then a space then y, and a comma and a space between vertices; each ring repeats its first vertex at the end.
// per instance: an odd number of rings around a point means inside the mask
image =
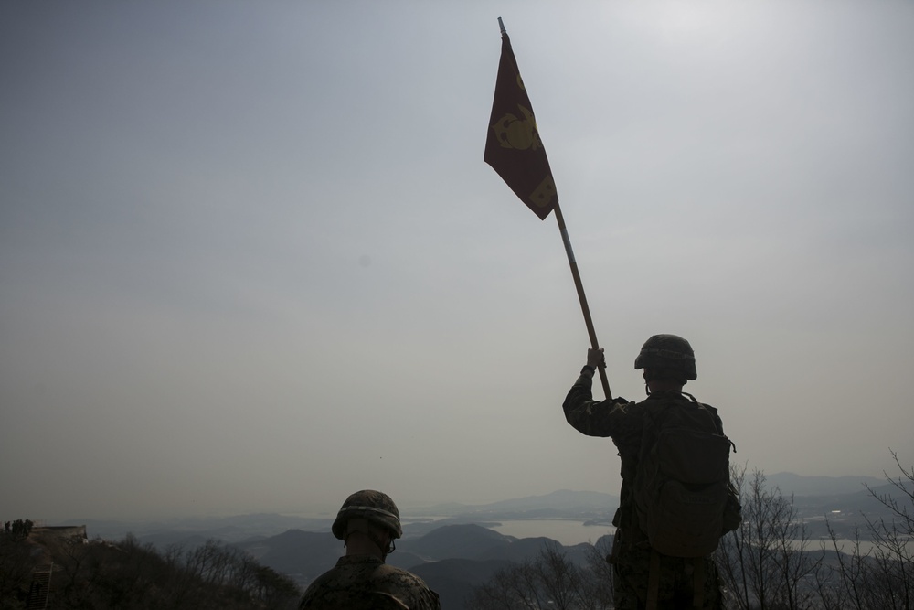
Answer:
POLYGON ((649 338, 634 362, 648 394, 638 403, 592 400, 594 371, 604 366, 603 350, 589 349, 562 407, 579 432, 611 437, 622 460, 610 557, 615 607, 720 608, 711 553, 739 527, 739 500, 717 410, 682 391, 697 377, 695 353, 682 337, 649 338))

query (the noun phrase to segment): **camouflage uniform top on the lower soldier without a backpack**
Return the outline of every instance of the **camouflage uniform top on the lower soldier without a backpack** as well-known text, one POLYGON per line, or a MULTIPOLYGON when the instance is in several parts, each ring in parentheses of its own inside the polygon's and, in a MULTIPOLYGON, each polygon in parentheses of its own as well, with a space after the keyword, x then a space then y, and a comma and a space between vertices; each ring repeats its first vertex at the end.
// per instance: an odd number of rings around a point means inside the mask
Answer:
POLYGON ((419 576, 370 555, 341 557, 304 592, 299 608, 440 610, 438 594, 419 576))

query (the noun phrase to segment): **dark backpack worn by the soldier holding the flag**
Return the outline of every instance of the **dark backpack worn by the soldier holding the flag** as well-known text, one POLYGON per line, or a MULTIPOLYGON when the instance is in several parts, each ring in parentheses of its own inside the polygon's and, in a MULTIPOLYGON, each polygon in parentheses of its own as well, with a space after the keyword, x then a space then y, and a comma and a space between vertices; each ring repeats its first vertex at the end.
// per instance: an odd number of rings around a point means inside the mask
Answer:
POLYGON ((655 551, 703 557, 729 527, 729 454, 736 447, 719 426, 717 410, 686 396, 690 402, 647 406, 634 508, 655 551))

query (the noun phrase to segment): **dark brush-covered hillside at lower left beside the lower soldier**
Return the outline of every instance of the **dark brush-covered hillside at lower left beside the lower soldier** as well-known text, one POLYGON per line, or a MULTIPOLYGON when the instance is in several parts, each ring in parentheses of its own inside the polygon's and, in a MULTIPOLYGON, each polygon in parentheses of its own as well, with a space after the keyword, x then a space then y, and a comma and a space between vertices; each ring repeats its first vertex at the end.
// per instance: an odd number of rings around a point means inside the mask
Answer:
POLYGON ((5 610, 284 610, 295 607, 299 595, 288 577, 215 540, 162 553, 132 536, 90 541, 58 528, 0 535, 5 610))

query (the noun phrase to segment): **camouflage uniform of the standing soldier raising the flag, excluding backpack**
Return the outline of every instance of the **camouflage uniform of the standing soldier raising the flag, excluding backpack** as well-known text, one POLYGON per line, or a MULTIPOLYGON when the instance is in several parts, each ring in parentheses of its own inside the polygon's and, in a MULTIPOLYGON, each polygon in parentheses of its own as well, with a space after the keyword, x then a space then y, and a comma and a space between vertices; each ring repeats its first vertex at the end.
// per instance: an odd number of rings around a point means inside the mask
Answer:
MULTIPOLYGON (((618 398, 593 401, 591 383, 591 376, 582 374, 571 387, 562 408, 568 422, 580 433, 609 436, 619 449, 622 490, 619 509, 612 519, 612 524, 616 526, 611 555, 613 599, 619 610, 639 610, 646 604, 653 554, 647 537, 637 524, 632 487, 641 451, 644 415, 670 401, 687 402, 688 399, 674 391, 655 392, 638 403, 618 398)), ((715 418, 719 424, 717 414, 715 418)), ((656 554, 659 556, 660 575, 658 608, 692 607, 696 598, 693 585, 696 569, 699 570, 699 580, 705 583, 703 594, 698 595, 702 602, 700 607, 709 610, 722 607, 717 567, 710 557, 696 560, 656 554)))

